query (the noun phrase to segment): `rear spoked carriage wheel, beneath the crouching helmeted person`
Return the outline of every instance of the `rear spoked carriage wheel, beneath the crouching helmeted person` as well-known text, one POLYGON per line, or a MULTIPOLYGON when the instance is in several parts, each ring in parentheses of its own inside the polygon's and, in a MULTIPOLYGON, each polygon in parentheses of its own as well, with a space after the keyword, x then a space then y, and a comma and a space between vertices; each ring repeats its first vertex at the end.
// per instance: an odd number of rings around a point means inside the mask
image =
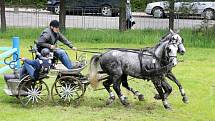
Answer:
POLYGON ((25 81, 21 84, 18 91, 18 98, 23 106, 35 105, 45 103, 49 99, 49 89, 45 82, 31 80, 25 81), (30 87, 26 85, 31 83, 30 87))

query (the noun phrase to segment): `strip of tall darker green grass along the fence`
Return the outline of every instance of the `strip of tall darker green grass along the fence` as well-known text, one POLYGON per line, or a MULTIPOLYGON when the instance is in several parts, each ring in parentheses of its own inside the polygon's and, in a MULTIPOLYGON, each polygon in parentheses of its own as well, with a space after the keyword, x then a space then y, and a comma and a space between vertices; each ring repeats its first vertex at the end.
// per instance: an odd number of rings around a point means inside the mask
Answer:
MULTIPOLYGON (((38 39, 44 28, 8 28, 7 32, 1 33, 0 38, 5 41, 10 40, 13 36, 18 36, 25 43, 33 43, 38 39)), ((207 47, 215 48, 214 29, 207 31, 183 29, 180 35, 184 38, 187 47, 207 47)), ((103 29, 70 29, 67 28, 65 36, 77 43, 124 43, 124 44, 154 44, 167 33, 167 30, 131 30, 119 32, 118 30, 103 29)))

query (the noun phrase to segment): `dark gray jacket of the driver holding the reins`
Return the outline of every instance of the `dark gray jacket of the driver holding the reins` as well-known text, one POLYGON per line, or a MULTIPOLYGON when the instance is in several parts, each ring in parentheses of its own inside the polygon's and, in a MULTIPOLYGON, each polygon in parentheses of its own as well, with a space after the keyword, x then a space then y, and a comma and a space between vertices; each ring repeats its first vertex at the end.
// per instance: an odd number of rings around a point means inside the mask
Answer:
POLYGON ((68 41, 61 33, 54 33, 51 28, 46 28, 36 42, 38 51, 40 52, 43 48, 50 49, 51 45, 55 45, 58 40, 70 48, 73 47, 72 43, 68 41))

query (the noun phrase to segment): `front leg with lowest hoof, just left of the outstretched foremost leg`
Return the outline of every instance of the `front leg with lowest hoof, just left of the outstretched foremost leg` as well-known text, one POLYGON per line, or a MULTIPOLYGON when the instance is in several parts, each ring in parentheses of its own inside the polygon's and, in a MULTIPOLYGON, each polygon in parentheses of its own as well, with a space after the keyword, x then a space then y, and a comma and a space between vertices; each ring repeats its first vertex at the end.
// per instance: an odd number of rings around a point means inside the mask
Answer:
POLYGON ((156 90, 158 91, 159 95, 161 96, 164 108, 171 109, 167 99, 164 97, 164 93, 163 93, 162 85, 161 85, 161 79, 153 79, 152 82, 153 82, 156 90))

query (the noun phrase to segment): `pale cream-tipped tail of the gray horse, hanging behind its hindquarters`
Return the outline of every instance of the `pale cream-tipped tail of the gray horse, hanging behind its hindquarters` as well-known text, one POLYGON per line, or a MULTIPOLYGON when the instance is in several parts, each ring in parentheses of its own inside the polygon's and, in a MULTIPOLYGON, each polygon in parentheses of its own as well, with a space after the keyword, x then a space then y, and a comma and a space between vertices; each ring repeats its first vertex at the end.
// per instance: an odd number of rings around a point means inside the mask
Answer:
POLYGON ((90 60, 89 81, 92 88, 94 89, 96 89, 99 84, 97 74, 98 74, 98 62, 100 57, 101 55, 94 55, 90 60))

